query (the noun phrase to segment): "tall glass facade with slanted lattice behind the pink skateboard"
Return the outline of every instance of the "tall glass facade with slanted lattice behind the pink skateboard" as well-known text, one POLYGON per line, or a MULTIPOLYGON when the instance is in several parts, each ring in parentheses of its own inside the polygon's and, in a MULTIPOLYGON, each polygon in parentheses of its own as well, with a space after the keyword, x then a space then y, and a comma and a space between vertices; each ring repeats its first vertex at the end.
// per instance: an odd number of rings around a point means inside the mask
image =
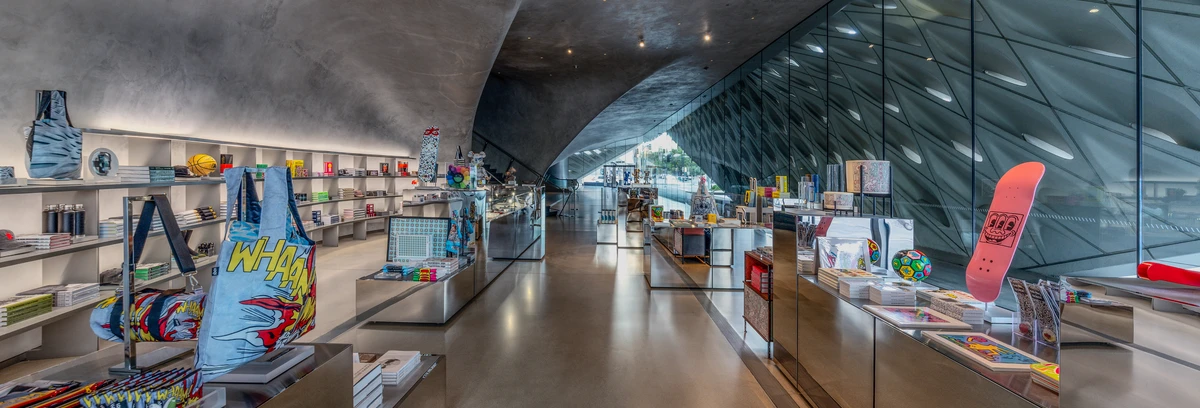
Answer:
POLYGON ((1192 0, 833 1, 647 138, 726 191, 888 160, 944 287, 965 287, 996 181, 1028 161, 1046 174, 1012 275, 1200 265, 1198 17, 1192 0))

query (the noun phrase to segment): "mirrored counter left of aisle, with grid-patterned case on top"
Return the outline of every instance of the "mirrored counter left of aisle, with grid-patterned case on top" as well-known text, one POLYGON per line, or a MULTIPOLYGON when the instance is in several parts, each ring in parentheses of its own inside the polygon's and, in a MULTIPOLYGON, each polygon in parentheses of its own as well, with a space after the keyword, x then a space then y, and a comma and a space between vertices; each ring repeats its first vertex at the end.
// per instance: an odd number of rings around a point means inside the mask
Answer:
POLYGON ((416 188, 413 197, 425 202, 404 203, 404 215, 388 221, 385 259, 416 270, 358 280, 356 312, 367 320, 444 324, 512 262, 545 252, 541 187, 416 188))

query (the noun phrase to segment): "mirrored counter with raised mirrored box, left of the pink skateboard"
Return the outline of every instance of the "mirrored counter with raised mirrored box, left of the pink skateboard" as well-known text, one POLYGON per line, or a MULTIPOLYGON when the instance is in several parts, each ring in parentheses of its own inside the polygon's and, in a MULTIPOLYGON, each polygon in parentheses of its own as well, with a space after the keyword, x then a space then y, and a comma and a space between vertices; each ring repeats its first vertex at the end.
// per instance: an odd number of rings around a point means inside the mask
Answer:
MULTIPOLYGON (((821 257, 817 236, 869 238, 895 252, 911 248, 911 226, 898 218, 775 214, 772 352, 780 370, 816 407, 1058 407, 1057 394, 1033 384, 1028 370, 992 371, 931 344, 920 330, 868 312, 870 300, 844 296, 812 275, 821 257)), ((1056 349, 1014 336, 1012 328, 958 331, 984 332, 1058 361, 1056 349)))

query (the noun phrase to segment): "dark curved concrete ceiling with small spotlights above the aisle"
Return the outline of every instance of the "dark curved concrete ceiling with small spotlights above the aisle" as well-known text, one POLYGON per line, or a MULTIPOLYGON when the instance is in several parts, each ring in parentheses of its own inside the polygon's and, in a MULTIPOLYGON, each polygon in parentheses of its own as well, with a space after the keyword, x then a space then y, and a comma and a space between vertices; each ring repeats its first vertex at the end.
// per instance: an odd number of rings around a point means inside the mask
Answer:
POLYGON ((642 136, 826 2, 524 1, 475 131, 545 172, 575 152, 642 136))

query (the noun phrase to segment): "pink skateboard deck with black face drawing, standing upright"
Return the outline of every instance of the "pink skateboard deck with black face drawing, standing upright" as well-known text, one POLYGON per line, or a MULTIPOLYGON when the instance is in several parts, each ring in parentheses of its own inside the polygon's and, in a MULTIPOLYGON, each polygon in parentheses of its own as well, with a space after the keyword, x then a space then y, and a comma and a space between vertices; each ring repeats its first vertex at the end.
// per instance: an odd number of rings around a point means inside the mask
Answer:
POLYGON ((1038 162, 1016 164, 1000 178, 991 208, 983 221, 979 242, 967 264, 967 292, 985 302, 1000 298, 1004 275, 1013 264, 1033 196, 1046 167, 1038 162))

